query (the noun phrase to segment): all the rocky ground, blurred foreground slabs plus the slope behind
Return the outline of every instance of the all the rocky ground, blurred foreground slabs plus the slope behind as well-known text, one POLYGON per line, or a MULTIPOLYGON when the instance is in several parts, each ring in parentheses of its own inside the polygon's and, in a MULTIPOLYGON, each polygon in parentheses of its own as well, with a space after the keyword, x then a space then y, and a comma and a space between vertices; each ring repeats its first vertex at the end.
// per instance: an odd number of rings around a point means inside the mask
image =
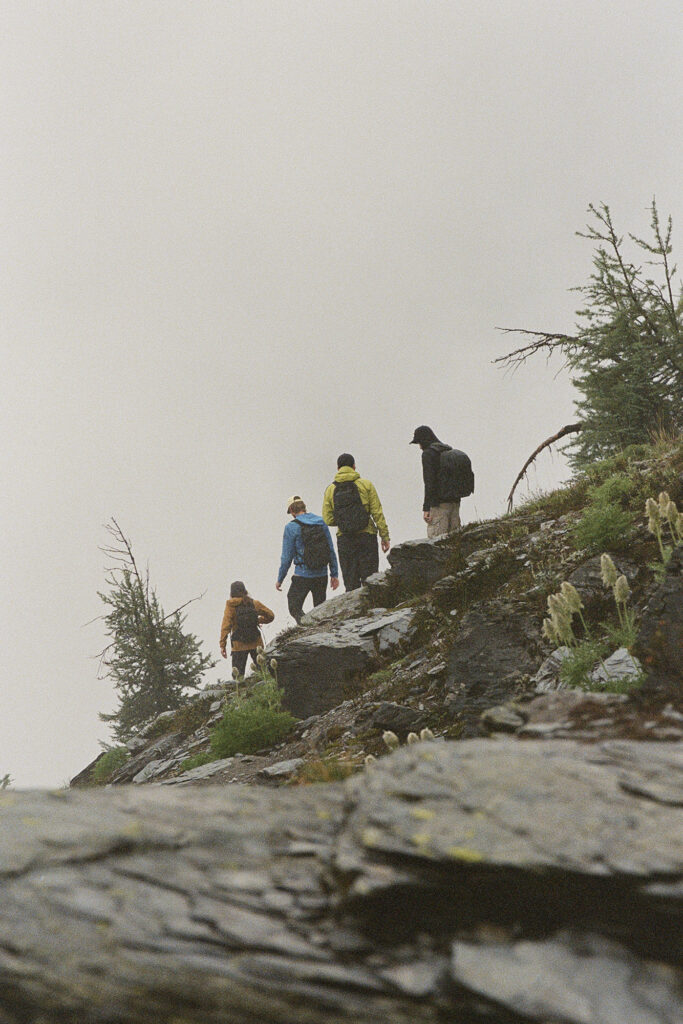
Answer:
MULTIPOLYGON (((606 484, 680 504, 682 470, 679 446, 606 484)), ((187 768, 219 687, 148 723, 103 790, 78 792, 91 765, 0 794, 2 1024, 680 1020, 681 550, 655 572, 642 518, 615 539, 638 635, 595 691, 560 682, 570 652, 541 630, 564 581, 613 625, 573 543, 603 480, 397 545, 282 633, 299 720, 273 749, 187 768)))

